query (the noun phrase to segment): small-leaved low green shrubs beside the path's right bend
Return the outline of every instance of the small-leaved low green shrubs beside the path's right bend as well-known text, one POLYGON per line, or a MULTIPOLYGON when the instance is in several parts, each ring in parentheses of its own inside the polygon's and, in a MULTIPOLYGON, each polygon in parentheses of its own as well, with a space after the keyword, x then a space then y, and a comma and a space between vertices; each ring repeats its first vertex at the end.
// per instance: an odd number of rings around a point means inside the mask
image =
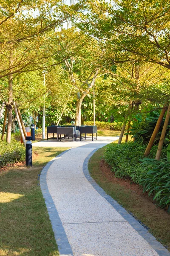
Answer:
MULTIPOLYGON (((146 145, 139 143, 122 143, 120 145, 111 143, 108 145, 104 159, 111 166, 115 177, 130 177, 133 182, 139 183, 143 173, 147 173, 145 166, 141 165, 146 145)), ((149 157, 154 158, 157 146, 153 146, 149 157)), ((162 150, 162 157, 166 157, 166 148, 162 150)))

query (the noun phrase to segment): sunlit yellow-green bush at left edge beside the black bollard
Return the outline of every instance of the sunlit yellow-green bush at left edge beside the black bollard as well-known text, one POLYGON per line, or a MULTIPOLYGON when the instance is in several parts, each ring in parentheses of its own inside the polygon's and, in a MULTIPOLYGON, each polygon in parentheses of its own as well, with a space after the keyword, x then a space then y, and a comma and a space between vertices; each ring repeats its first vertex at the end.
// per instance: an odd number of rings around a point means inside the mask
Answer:
POLYGON ((25 147, 12 138, 11 144, 0 141, 0 167, 7 163, 17 163, 25 160, 25 147))

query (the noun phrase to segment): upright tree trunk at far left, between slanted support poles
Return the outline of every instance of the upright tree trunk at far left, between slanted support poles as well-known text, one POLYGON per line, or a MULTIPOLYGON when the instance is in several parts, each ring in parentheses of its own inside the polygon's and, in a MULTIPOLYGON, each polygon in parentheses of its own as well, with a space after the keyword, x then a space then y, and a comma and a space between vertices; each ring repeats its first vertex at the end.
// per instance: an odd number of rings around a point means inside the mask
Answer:
MULTIPOLYGON (((12 66, 12 52, 10 52, 9 56, 9 66, 12 66)), ((11 143, 11 127, 12 127, 12 75, 8 77, 8 125, 7 125, 7 132, 6 132, 6 142, 11 143)))

